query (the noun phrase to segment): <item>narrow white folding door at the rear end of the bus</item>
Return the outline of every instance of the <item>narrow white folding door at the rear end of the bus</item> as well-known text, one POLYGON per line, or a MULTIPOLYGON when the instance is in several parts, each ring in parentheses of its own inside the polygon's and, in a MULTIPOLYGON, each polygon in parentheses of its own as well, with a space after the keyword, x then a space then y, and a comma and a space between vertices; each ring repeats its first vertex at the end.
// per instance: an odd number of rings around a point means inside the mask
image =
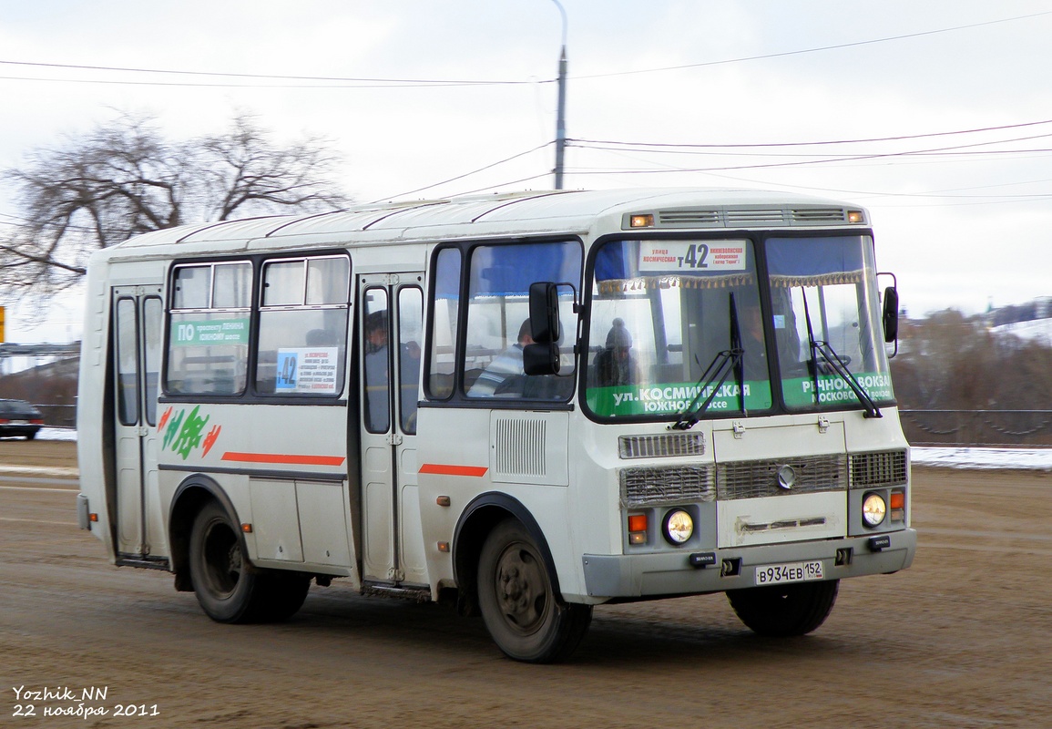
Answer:
POLYGON ((113 288, 113 411, 117 470, 117 552, 145 558, 163 539, 147 523, 147 494, 157 494, 157 394, 163 342, 161 287, 113 288))

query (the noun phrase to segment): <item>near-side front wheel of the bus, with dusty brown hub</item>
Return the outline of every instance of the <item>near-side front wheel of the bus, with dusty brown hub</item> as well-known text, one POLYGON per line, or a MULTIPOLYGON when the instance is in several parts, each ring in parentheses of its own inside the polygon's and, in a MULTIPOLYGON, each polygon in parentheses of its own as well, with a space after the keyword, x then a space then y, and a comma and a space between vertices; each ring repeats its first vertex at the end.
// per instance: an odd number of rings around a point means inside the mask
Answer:
POLYGON ((555 594, 542 550, 513 519, 498 524, 482 546, 479 608, 504 654, 526 663, 569 657, 592 612, 555 594))

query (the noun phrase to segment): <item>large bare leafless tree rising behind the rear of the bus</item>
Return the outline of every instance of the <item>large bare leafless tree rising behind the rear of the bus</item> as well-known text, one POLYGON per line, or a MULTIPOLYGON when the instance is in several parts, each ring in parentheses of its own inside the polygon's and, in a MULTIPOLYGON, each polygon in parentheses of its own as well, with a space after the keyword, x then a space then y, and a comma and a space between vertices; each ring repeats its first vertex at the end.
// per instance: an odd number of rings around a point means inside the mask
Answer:
POLYGON ((0 239, 0 287, 46 299, 79 282, 95 250, 149 230, 338 209, 347 203, 331 182, 338 163, 324 139, 280 146, 247 115, 186 142, 124 115, 3 173, 24 224, 0 239))

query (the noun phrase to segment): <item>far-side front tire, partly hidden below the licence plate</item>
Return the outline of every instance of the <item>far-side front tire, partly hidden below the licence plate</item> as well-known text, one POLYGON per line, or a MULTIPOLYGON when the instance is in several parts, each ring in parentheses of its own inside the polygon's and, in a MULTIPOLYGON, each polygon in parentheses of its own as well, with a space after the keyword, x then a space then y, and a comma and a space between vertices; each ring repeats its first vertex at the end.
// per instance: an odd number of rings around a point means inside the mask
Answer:
POLYGON ((839 580, 728 590, 727 600, 753 632, 771 637, 806 635, 826 622, 839 580))

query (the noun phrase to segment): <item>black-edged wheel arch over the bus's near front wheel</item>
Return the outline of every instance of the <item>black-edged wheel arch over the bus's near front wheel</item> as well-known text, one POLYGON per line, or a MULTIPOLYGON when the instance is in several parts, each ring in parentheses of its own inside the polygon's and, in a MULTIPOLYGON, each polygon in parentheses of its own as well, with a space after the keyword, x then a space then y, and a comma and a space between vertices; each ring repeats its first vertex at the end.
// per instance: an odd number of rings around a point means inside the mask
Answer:
POLYGON ((559 573, 551 556, 544 530, 530 510, 518 499, 506 493, 482 493, 461 512, 453 531, 453 580, 460 592, 462 610, 474 614, 478 609, 479 556, 482 545, 493 528, 506 519, 515 519, 526 529, 541 550, 545 569, 551 580, 552 592, 562 601, 559 573))

